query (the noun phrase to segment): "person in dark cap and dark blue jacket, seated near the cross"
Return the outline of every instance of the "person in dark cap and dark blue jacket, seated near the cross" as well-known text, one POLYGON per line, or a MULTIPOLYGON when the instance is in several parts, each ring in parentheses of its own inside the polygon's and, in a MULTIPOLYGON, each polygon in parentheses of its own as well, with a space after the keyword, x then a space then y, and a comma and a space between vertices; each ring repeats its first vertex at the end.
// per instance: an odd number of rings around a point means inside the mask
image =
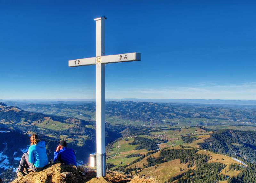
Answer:
POLYGON ((76 153, 73 149, 67 148, 67 142, 62 140, 58 145, 56 151, 54 152, 53 161, 60 161, 65 165, 75 165, 76 164, 76 153))

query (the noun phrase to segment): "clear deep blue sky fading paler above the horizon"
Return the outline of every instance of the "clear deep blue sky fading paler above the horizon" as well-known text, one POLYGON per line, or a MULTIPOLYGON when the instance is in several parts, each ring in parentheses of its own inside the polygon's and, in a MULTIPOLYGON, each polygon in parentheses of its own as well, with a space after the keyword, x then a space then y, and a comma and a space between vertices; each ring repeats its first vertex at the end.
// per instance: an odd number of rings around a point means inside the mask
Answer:
POLYGON ((256 100, 256 1, 0 0, 0 99, 95 98, 94 18, 106 16, 107 98, 256 100))

